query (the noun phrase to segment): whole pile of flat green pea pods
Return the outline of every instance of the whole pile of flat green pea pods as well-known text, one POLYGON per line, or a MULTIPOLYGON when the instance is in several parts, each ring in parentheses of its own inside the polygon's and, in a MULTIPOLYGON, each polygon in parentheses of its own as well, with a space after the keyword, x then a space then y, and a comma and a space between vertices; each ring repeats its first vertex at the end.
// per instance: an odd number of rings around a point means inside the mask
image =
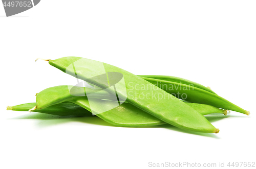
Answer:
POLYGON ((42 60, 48 61, 64 73, 88 82, 92 87, 50 87, 36 94, 36 103, 8 106, 7 110, 62 116, 96 115, 119 127, 147 127, 167 123, 185 130, 205 133, 219 132, 204 117, 206 114, 226 115, 227 110, 232 110, 249 115, 249 111, 225 100, 210 88, 186 79, 136 76, 116 66, 80 57, 42 60), (120 79, 119 75, 122 83, 116 82, 117 77, 120 79), (111 79, 115 83, 111 84, 111 79), (191 86, 193 89, 188 89, 191 86), (113 99, 113 95, 117 100, 113 99), (146 97, 141 98, 141 95, 146 97), (159 99, 159 95, 164 95, 165 98, 159 99))

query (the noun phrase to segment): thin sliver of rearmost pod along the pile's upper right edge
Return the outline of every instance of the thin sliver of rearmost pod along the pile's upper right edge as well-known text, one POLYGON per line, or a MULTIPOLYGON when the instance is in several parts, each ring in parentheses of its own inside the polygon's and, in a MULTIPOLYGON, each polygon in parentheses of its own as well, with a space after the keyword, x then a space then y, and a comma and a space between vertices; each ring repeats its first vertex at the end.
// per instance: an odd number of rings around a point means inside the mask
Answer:
POLYGON ((185 84, 185 85, 189 85, 189 86, 194 86, 197 88, 200 88, 202 90, 206 90, 209 91, 211 93, 216 94, 214 91, 212 91, 209 87, 205 87, 199 83, 187 80, 187 79, 183 79, 183 78, 178 78, 178 77, 174 77, 174 76, 161 76, 161 75, 138 75, 139 77, 142 78, 152 78, 152 79, 158 79, 158 80, 164 80, 164 81, 170 81, 170 82, 176 82, 176 83, 181 83, 181 84, 185 84))

